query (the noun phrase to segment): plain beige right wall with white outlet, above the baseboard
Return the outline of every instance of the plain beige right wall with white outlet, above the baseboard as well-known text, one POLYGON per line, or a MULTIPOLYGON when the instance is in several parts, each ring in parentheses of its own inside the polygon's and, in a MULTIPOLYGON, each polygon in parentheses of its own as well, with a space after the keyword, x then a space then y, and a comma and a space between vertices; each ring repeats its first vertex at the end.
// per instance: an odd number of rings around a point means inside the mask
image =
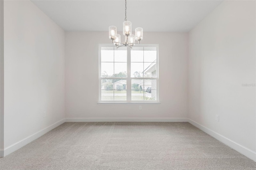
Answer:
POLYGON ((188 64, 189 118, 252 155, 255 86, 242 84, 256 83, 255 21, 255 1, 224 1, 190 31, 188 64))

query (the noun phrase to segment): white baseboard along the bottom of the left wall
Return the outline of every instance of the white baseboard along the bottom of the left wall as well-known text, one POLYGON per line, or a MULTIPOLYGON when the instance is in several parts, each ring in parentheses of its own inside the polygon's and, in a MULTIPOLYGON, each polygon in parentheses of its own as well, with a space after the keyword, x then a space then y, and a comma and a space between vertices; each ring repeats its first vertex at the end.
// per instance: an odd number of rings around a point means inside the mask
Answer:
POLYGON ((62 120, 60 120, 60 121, 58 121, 58 122, 56 122, 56 123, 54 123, 54 124, 44 128, 44 129, 42 129, 40 131, 38 131, 38 132, 36 132, 36 133, 34 133, 34 134, 32 134, 32 135, 30 135, 30 136, 20 140, 20 141, 12 144, 11 146, 8 146, 8 147, 4 148, 3 155, 6 156, 6 155, 14 152, 15 150, 18 150, 19 148, 25 146, 26 144, 32 142, 33 140, 39 138, 40 136, 42 136, 44 134, 46 134, 50 130, 60 126, 62 123, 65 123, 65 119, 62 119, 62 120))

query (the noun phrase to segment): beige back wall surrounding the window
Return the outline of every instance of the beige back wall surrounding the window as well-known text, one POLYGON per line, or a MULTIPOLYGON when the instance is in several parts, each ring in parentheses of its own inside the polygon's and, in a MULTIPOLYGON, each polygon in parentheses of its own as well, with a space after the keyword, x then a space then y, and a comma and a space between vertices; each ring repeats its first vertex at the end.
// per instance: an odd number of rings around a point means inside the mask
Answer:
MULTIPOLYGON (((123 37, 121 37, 123 38, 123 37)), ((98 45, 108 32, 66 32, 66 118, 187 118, 188 33, 144 32, 159 44, 160 105, 98 105, 98 45)))

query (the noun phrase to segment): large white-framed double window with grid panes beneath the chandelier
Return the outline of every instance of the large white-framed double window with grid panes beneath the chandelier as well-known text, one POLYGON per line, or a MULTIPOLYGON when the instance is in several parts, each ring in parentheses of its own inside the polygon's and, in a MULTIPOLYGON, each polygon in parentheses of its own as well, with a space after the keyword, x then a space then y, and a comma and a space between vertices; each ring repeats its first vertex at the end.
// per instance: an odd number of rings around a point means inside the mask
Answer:
POLYGON ((99 102, 158 102, 158 45, 99 49, 99 102))

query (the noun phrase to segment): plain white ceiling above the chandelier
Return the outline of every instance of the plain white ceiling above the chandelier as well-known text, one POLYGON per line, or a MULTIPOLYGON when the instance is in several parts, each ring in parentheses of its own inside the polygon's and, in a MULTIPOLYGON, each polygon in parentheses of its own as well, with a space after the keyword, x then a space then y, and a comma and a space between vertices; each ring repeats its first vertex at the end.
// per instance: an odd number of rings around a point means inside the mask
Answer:
MULTIPOLYGON (((223 0, 127 0, 132 30, 188 32, 223 0)), ((66 31, 122 31, 124 0, 32 0, 66 31)))

